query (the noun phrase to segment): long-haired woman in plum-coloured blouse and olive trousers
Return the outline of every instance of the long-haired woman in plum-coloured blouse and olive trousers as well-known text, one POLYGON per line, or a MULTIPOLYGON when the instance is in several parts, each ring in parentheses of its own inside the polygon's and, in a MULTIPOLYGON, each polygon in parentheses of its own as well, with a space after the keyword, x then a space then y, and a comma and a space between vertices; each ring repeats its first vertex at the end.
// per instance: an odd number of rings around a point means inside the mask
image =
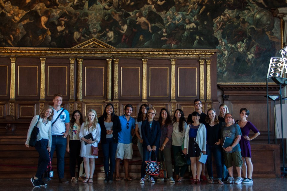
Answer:
MULTIPOLYGON (((170 113, 162 108, 160 112, 160 116, 158 118, 158 122, 161 126, 161 138, 159 148, 159 156, 164 157, 165 164, 167 166, 167 177, 171 183, 174 183, 174 179, 172 176, 172 163, 171 163, 171 135, 173 132, 173 124, 170 118, 170 113)), ((158 178, 158 181, 164 181, 164 178, 158 178)))

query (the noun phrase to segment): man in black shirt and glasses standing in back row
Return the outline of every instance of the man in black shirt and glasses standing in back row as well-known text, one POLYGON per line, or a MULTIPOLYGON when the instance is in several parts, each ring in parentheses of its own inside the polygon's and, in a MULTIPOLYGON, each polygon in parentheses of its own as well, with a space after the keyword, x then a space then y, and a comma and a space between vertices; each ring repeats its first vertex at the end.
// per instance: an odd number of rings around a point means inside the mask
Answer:
MULTIPOLYGON (((195 111, 197 111, 199 113, 199 116, 200 116, 199 123, 205 124, 206 123, 205 122, 205 118, 206 118, 207 115, 205 113, 203 113, 202 110, 201 110, 201 106, 202 106, 201 101, 199 99, 195 99, 193 101, 193 104, 194 104, 195 111)), ((188 117, 187 117, 187 124, 189 125, 189 124, 192 124, 192 123, 193 123, 192 115, 189 114, 188 117)), ((207 181, 207 178, 205 176, 205 172, 204 171, 205 171, 205 164, 202 164, 202 170, 201 170, 200 179, 202 181, 207 181)), ((197 178, 193 178, 193 179, 197 179, 197 178)))

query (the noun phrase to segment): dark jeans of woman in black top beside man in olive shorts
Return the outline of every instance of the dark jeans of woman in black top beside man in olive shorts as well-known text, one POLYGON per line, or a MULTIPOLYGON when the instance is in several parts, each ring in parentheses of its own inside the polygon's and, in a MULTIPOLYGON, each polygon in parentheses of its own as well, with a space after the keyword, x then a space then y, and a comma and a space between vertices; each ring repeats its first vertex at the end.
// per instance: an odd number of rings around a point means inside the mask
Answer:
POLYGON ((221 164, 221 150, 222 147, 220 145, 206 145, 206 154, 207 154, 207 172, 209 177, 213 177, 212 172, 212 154, 215 159, 216 163, 216 172, 217 172, 217 178, 222 178, 222 164, 221 164))

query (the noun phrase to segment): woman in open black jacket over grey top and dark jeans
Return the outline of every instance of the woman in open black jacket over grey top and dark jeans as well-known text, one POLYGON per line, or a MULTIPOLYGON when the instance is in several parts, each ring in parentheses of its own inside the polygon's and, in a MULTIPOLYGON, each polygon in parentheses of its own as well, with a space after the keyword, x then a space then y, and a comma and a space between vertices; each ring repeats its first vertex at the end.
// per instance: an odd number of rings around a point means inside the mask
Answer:
POLYGON ((99 117, 99 124, 101 127, 101 143, 104 155, 104 182, 112 182, 115 172, 118 133, 122 130, 120 119, 115 115, 113 104, 106 105, 103 115, 99 117))

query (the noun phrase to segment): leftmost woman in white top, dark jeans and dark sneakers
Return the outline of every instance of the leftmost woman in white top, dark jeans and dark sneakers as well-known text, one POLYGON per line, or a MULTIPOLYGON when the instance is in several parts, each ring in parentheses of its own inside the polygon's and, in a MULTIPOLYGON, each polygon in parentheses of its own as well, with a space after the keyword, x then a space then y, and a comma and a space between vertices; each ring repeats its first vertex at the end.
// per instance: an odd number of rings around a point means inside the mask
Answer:
POLYGON ((53 115, 53 107, 51 105, 45 106, 41 110, 40 115, 35 115, 33 117, 28 129, 25 146, 29 148, 29 141, 33 128, 36 124, 39 128, 39 133, 37 135, 37 141, 35 145, 35 149, 39 153, 38 168, 36 175, 30 179, 34 187, 47 185, 42 181, 42 174, 45 172, 50 161, 49 152, 51 151, 52 146, 51 120, 53 119, 53 115))

